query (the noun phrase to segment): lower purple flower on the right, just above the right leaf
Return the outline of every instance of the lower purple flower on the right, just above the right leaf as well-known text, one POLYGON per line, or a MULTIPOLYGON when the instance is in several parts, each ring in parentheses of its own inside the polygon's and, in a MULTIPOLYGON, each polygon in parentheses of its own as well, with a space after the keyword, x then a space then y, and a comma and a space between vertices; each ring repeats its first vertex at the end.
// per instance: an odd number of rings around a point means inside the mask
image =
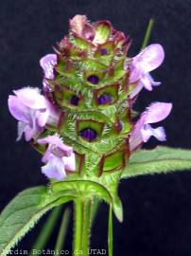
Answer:
POLYGON ((135 123, 130 134, 130 151, 135 150, 147 142, 149 137, 156 137, 160 141, 165 140, 165 130, 162 126, 152 128, 150 123, 165 119, 172 109, 171 103, 155 102, 141 115, 135 123))

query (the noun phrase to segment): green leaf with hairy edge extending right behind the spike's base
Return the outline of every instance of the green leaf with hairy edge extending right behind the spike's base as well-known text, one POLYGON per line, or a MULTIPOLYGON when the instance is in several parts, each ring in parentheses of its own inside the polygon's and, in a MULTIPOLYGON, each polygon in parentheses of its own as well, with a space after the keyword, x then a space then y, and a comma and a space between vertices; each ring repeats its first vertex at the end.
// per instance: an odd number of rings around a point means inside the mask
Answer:
POLYGON ((165 174, 191 169, 191 150, 159 146, 154 150, 140 150, 130 156, 122 178, 144 174, 165 174))

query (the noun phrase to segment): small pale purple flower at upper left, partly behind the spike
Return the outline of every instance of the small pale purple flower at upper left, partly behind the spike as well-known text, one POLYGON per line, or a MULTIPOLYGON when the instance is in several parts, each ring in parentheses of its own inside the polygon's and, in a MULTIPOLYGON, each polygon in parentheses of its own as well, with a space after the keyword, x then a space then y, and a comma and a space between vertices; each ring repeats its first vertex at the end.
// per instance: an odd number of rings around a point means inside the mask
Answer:
POLYGON ((43 68, 44 79, 43 79, 43 87, 45 90, 49 91, 49 84, 45 79, 54 79, 54 66, 57 64, 57 55, 56 54, 46 54, 40 60, 40 65, 43 68))

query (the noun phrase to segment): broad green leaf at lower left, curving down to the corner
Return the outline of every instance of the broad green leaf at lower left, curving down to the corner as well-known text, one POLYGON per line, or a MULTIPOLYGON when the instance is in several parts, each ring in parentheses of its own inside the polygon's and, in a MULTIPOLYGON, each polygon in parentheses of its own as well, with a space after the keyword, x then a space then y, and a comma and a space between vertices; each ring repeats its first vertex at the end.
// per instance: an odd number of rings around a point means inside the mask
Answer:
POLYGON ((0 255, 7 255, 47 210, 71 199, 63 193, 54 195, 43 186, 20 192, 0 215, 0 255))

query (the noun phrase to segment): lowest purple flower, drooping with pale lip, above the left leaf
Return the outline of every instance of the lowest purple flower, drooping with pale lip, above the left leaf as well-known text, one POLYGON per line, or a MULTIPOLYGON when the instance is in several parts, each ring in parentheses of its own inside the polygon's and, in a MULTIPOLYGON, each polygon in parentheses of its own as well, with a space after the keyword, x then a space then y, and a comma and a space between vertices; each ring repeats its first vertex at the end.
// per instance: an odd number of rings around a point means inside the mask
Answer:
POLYGON ((46 163, 42 172, 48 178, 62 180, 65 170, 74 172, 76 170, 75 154, 72 147, 65 145, 57 135, 43 137, 37 140, 39 144, 48 144, 42 161, 46 163))

